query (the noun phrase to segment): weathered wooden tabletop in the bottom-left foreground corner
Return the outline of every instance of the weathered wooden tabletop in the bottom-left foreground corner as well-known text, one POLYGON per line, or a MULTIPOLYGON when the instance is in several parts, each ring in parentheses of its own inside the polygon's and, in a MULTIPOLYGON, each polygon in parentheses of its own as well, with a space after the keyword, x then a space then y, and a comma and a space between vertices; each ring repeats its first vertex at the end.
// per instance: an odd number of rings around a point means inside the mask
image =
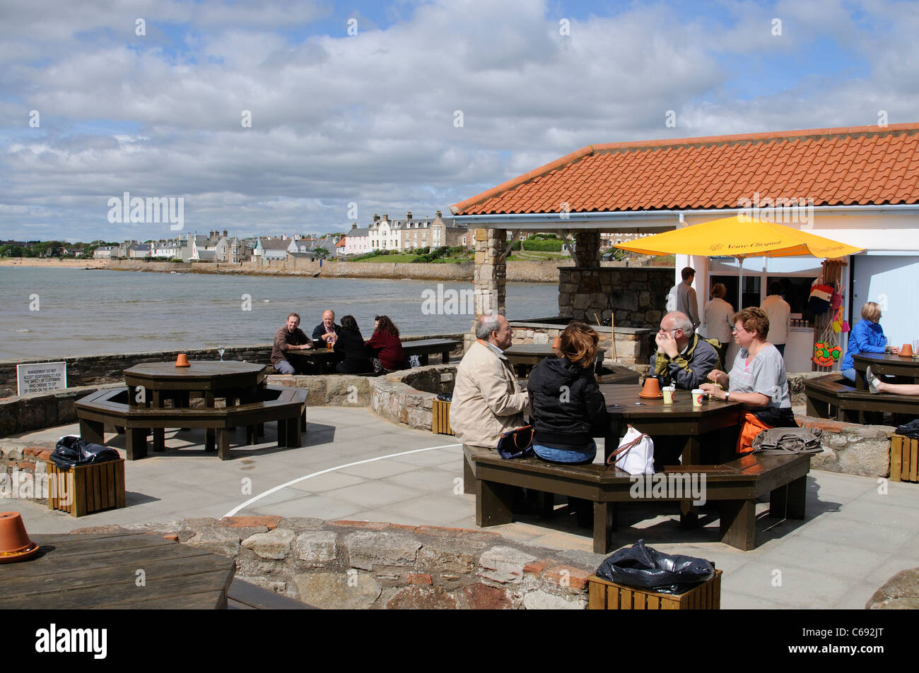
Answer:
POLYGON ((227 606, 227 589, 236 568, 232 558, 150 533, 31 538, 40 544, 38 555, 0 571, 0 609, 214 610, 227 606))

